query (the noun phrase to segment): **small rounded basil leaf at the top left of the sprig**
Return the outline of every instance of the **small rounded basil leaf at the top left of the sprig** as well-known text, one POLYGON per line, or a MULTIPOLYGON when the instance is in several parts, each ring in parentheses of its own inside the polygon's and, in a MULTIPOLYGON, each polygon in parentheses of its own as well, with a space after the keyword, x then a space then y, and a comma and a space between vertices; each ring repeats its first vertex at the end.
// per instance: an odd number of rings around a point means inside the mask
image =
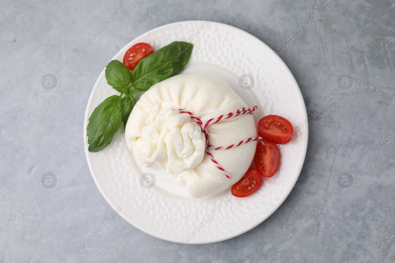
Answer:
POLYGON ((132 73, 118 60, 111 60, 105 67, 105 79, 110 86, 122 93, 130 84, 132 73))

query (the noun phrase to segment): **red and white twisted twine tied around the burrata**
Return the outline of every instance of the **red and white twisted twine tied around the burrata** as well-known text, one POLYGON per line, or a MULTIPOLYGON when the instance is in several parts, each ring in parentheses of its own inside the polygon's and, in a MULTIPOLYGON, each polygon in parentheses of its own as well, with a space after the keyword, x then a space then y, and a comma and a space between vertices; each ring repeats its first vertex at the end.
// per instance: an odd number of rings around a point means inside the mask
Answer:
POLYGON ((224 170, 224 168, 222 168, 222 167, 218 164, 218 162, 216 162, 216 160, 214 160, 214 156, 208 151, 208 148, 211 148, 211 149, 214 149, 214 150, 227 150, 227 149, 230 149, 230 148, 233 148, 233 147, 240 146, 240 145, 242 145, 242 144, 246 144, 247 142, 253 142, 253 141, 256 141, 256 140, 262 140, 262 137, 257 136, 257 137, 254 137, 254 138, 248 138, 247 140, 243 140, 243 141, 241 141, 241 142, 239 142, 239 143, 237 143, 237 144, 232 144, 232 145, 229 145, 229 146, 226 146, 226 147, 224 147, 224 146, 222 146, 222 147, 214 147, 213 145, 210 145, 210 144, 209 144, 209 132, 208 132, 208 130, 207 130, 207 126, 209 126, 210 124, 213 124, 213 123, 217 123, 217 122, 219 122, 219 121, 222 121, 222 120, 224 120, 224 119, 229 119, 229 118, 231 118, 231 117, 236 117, 236 116, 239 116, 239 115, 242 115, 242 114, 253 114, 253 113, 254 113, 254 110, 256 110, 257 108, 258 108, 258 106, 254 106, 252 109, 250 109, 250 108, 248 108, 248 109, 242 108, 241 110, 236 110, 235 112, 231 112, 231 113, 228 113, 228 114, 226 114, 226 115, 221 115, 221 116, 219 116, 218 118, 212 118, 212 119, 209 119, 209 120, 207 120, 207 121, 205 121, 205 122, 201 121, 201 119, 199 119, 199 117, 195 116, 192 112, 188 112, 188 111, 183 110, 183 109, 178 109, 178 110, 172 109, 172 110, 176 110, 176 111, 178 111, 180 114, 182 114, 182 113, 189 114, 189 115, 191 116, 191 119, 193 119, 194 121, 196 121, 196 123, 198 123, 198 124, 200 125, 201 131, 203 132, 203 134, 204 134, 204 136, 205 136, 205 138, 206 138, 206 148, 205 148, 205 151, 206 151, 207 155, 208 155, 208 156, 210 157, 210 159, 214 162, 214 164, 216 165, 216 167, 217 167, 219 170, 221 170, 222 173, 230 180, 231 177, 230 177, 229 173, 227 173, 227 172, 224 170))

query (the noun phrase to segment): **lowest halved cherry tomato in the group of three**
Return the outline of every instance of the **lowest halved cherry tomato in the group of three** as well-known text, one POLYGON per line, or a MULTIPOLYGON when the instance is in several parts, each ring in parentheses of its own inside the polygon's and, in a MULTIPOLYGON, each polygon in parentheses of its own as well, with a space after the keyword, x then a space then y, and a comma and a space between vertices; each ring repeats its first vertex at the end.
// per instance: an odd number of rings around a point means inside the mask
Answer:
POLYGON ((247 197, 261 187, 262 177, 255 168, 248 168, 241 179, 232 186, 231 192, 236 197, 247 197))

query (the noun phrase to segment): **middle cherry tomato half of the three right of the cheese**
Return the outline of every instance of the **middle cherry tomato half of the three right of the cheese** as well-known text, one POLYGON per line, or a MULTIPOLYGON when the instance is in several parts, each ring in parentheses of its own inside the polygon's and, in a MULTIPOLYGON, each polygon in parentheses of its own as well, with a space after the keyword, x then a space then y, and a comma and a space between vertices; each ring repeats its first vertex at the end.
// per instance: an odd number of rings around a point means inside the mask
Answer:
POLYGON ((258 142, 254 160, 256 170, 263 177, 272 177, 280 166, 280 150, 271 142, 258 142))

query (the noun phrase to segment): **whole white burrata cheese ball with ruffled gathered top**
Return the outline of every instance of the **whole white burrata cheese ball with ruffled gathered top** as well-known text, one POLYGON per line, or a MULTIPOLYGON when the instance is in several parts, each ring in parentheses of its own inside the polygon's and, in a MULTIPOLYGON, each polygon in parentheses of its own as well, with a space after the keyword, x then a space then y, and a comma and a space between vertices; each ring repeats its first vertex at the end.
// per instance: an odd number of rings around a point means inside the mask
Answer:
MULTIPOLYGON (((186 182, 194 198, 210 196, 231 187, 245 174, 254 158, 256 142, 209 152, 231 176, 216 167, 205 153, 205 136, 189 114, 203 122, 247 108, 245 102, 223 80, 205 74, 181 74, 157 83, 134 106, 125 129, 128 148, 141 164, 164 168, 186 182)), ((209 144, 220 147, 256 137, 250 114, 210 124, 209 144)))

